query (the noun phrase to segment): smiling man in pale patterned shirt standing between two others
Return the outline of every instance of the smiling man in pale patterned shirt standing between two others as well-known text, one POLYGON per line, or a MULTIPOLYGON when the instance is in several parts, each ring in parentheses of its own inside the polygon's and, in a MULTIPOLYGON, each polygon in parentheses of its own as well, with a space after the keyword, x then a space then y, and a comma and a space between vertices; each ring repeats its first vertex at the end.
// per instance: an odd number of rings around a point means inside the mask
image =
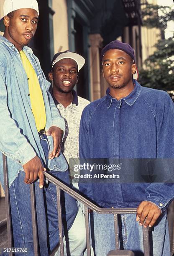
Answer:
MULTIPOLYGON (((65 120, 65 136, 61 144, 61 151, 69 164, 69 175, 72 184, 78 189, 78 179, 74 179, 74 166, 79 164, 79 126, 82 111, 90 102, 79 97, 74 86, 78 82, 78 72, 83 67, 85 59, 71 51, 56 53, 51 61, 49 79, 53 82, 51 94, 65 120)), ((83 86, 83 84, 81 84, 83 86)), ((70 252, 76 249, 76 255, 82 256, 86 247, 85 221, 83 205, 79 210, 72 227, 68 232, 70 252), (74 240, 76 243, 74 243, 74 240)), ((66 248, 65 248, 66 250, 66 248)))

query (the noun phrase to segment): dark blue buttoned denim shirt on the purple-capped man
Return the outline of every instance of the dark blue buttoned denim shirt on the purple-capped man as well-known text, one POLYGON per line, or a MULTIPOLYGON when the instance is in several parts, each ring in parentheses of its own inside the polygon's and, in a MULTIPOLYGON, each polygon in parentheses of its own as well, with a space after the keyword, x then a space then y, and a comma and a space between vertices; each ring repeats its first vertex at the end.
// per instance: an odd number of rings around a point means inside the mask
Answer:
POLYGON ((100 184, 80 179, 79 189, 102 207, 137 207, 148 200, 164 211, 174 198, 174 103, 166 92, 133 82, 127 97, 116 100, 108 88, 105 97, 84 108, 80 159, 163 159, 160 169, 167 173, 166 182, 100 184))

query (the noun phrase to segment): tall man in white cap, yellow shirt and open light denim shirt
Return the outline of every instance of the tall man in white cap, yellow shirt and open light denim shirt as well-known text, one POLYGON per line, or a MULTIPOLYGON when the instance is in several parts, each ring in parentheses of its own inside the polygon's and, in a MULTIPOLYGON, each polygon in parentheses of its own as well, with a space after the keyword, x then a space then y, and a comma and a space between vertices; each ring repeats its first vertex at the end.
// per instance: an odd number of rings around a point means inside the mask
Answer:
MULTIPOLYGON (((69 184, 67 162, 60 151, 64 119, 54 105, 38 59, 27 46, 36 32, 38 15, 36 0, 5 0, 5 33, 0 36, 0 151, 8 162, 14 247, 27 248, 30 256, 34 250, 29 184, 39 177, 34 185, 39 254, 44 256, 59 242, 59 228, 56 187, 47 184, 43 189, 43 172, 51 169, 51 174, 69 184)), ((2 161, 0 165, 3 183, 2 161)), ((69 229, 77 204, 67 193, 64 202, 63 222, 69 229)))

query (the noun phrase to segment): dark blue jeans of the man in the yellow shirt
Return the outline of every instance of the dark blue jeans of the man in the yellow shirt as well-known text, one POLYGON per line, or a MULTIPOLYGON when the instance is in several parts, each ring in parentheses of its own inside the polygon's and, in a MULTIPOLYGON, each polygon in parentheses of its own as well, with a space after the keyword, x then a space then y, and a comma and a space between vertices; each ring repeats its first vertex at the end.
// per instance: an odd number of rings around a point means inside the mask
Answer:
MULTIPOLYGON (((48 144, 42 141, 42 147, 47 150, 48 144)), ((65 184, 69 184, 68 171, 51 171, 54 177, 65 184)), ((33 256, 33 230, 31 218, 30 185, 24 184, 25 173, 20 171, 10 186, 10 208, 12 216, 13 241, 16 248, 27 248, 27 253, 21 256, 33 256)), ((47 256, 59 243, 59 226, 57 214, 56 186, 48 183, 44 189, 39 188, 39 183, 34 183, 36 195, 36 215, 38 228, 39 255, 47 256)), ((69 230, 77 215, 77 203, 67 193, 61 191, 62 221, 64 233, 69 230)), ((8 254, 3 254, 8 255, 8 254)))

